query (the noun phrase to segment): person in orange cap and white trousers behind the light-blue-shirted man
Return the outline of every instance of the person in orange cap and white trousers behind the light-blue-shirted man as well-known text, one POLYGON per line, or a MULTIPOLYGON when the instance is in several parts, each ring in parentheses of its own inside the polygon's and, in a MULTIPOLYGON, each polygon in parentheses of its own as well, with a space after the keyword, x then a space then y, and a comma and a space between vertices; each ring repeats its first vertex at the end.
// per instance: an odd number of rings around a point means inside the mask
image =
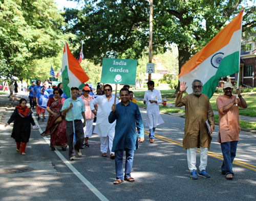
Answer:
MULTIPOLYGON (((86 127, 83 127, 83 144, 81 146, 81 148, 84 148, 84 146, 90 147, 88 140, 92 137, 93 120, 95 115, 90 109, 90 102, 94 99, 94 97, 89 94, 89 86, 84 86, 82 88, 82 92, 83 94, 79 98, 83 101, 84 107, 86 108, 86 111, 84 111, 84 115, 86 116, 86 127)), ((97 108, 97 105, 94 105, 94 107, 97 108)))

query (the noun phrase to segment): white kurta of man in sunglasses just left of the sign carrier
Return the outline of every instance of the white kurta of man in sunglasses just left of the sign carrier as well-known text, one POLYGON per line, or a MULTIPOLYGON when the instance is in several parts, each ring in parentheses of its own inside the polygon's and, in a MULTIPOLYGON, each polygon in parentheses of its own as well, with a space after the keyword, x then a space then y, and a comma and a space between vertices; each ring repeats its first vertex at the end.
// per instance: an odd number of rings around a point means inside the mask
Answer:
MULTIPOLYGON (((109 115, 112 111, 112 105, 114 104, 115 97, 111 96, 110 100, 106 98, 106 95, 99 96, 90 102, 91 110, 94 110, 94 105, 98 104, 97 122, 93 133, 98 134, 101 137, 107 137, 111 129, 115 129, 116 121, 112 124, 109 123, 109 115)), ((119 103, 116 98, 116 104, 119 103)))

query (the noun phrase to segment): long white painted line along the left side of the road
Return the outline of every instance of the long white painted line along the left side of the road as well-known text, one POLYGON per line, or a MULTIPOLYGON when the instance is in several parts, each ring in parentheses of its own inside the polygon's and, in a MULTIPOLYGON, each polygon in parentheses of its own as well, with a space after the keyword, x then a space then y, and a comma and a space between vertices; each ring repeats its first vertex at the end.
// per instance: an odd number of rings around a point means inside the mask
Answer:
MULTIPOLYGON (((33 117, 36 124, 38 124, 36 117, 33 117)), ((39 128, 39 132, 42 133, 41 127, 39 128)), ((43 137, 47 144, 50 146, 50 140, 47 137, 43 137)), ((101 192, 99 192, 78 170, 65 158, 63 155, 56 149, 55 153, 58 155, 58 157, 65 163, 69 169, 74 172, 74 174, 82 181, 83 184, 85 184, 100 200, 102 201, 109 201, 104 195, 102 195, 101 192)))

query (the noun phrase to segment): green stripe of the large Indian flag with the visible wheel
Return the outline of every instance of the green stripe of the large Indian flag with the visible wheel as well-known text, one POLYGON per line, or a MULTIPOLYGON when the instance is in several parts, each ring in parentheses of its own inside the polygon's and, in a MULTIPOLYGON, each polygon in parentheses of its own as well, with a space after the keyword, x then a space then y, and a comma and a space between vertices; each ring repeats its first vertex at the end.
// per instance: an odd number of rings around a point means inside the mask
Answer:
POLYGON ((202 94, 210 99, 216 90, 216 87, 222 77, 239 72, 239 52, 234 52, 224 57, 214 76, 212 76, 204 85, 202 94))

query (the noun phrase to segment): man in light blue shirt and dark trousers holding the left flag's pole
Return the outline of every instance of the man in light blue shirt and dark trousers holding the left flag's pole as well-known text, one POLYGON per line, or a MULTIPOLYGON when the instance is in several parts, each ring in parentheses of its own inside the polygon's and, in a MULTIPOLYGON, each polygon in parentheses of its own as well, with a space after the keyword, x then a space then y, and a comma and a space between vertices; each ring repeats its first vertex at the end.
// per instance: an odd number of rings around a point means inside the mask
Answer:
POLYGON ((62 113, 66 115, 66 132, 67 132, 67 140, 69 145, 69 158, 71 161, 75 160, 75 153, 78 157, 82 156, 80 148, 82 146, 83 140, 83 127, 86 126, 86 116, 84 115, 84 111, 86 108, 82 102, 82 99, 77 98, 78 88, 71 87, 71 98, 68 98, 64 101, 62 106, 62 113), (74 130, 73 130, 73 116, 72 116, 72 107, 74 114, 74 126, 75 126, 75 138, 76 144, 73 147, 73 139, 74 139, 74 130), (83 119, 83 123, 81 121, 83 119))

